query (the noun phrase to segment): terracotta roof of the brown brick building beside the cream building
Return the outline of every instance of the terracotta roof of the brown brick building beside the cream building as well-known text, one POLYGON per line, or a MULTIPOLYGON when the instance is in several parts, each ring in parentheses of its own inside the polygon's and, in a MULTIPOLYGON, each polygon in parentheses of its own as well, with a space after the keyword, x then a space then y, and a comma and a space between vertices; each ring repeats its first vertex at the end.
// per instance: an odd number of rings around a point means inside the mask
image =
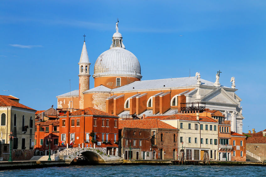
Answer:
POLYGON ((176 129, 175 127, 162 122, 158 119, 133 119, 133 120, 119 120, 118 122, 119 129, 122 128, 167 128, 167 129, 176 129))

